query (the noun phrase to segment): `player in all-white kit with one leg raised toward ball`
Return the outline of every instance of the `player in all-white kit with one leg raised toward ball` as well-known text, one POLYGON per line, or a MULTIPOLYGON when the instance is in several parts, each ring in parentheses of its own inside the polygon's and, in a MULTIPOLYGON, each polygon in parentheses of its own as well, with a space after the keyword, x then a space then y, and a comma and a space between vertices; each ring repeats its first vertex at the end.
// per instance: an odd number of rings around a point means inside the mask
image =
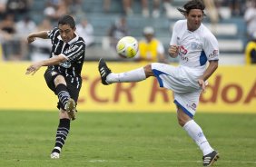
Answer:
POLYGON ((175 23, 168 53, 171 57, 179 57, 179 66, 153 63, 114 74, 101 59, 98 70, 103 84, 140 82, 154 76, 161 87, 172 90, 178 123, 202 150, 202 165, 212 166, 219 153, 213 150, 202 128, 193 120, 206 80, 218 68, 219 60, 218 41, 202 24, 204 8, 202 0, 191 0, 178 8, 186 19, 175 23))

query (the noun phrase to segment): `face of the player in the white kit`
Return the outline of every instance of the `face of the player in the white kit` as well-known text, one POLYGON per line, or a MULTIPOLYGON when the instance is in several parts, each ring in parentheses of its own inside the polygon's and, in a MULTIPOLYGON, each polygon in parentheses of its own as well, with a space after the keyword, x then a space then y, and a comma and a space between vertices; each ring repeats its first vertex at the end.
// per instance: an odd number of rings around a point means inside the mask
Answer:
POLYGON ((188 21, 188 29, 190 31, 195 31, 199 28, 202 23, 202 10, 200 9, 192 9, 188 15, 186 15, 188 21))

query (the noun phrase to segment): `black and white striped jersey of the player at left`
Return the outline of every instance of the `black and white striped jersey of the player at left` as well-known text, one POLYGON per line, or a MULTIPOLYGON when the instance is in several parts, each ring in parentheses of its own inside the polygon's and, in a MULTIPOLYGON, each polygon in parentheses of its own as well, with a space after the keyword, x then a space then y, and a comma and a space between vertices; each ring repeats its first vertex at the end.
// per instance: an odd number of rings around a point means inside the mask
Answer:
POLYGON ((52 42, 50 57, 63 54, 67 59, 64 63, 49 66, 48 68, 63 74, 66 80, 80 87, 82 83, 81 71, 85 56, 84 39, 76 34, 74 39, 64 43, 57 27, 48 32, 48 37, 52 42))

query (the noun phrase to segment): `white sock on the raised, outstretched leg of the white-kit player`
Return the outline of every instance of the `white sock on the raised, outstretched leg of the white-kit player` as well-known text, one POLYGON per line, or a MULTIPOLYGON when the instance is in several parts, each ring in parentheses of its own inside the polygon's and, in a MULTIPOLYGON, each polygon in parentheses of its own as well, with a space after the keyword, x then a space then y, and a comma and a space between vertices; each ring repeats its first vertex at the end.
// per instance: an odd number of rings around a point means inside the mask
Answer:
POLYGON ((145 79, 146 74, 144 72, 143 67, 120 74, 111 73, 106 77, 106 81, 108 83, 130 83, 143 81, 145 79))

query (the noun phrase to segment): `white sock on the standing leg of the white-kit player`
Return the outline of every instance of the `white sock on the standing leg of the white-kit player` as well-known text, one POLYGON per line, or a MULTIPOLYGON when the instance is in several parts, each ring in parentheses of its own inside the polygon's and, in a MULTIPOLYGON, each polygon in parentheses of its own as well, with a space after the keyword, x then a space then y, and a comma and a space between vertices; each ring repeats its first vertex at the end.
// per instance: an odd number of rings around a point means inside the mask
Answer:
POLYGON ((202 133, 201 127, 195 123, 193 120, 185 123, 183 126, 183 129, 189 133, 189 135, 192 137, 194 142, 197 143, 199 148, 202 150, 203 155, 207 155, 208 153, 211 153, 213 151, 211 145, 205 138, 204 134, 202 133))

